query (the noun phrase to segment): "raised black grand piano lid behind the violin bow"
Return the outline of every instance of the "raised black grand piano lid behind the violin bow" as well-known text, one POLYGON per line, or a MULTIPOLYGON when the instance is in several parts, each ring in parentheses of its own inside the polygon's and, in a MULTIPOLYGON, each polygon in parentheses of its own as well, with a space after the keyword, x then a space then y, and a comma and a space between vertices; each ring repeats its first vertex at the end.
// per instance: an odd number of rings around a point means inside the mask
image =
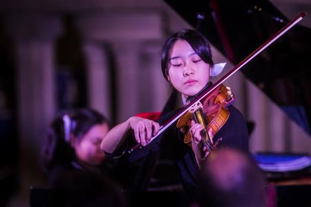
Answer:
MULTIPOLYGON (((288 22, 270 1, 165 1, 234 64, 245 59, 288 22)), ((310 37, 310 28, 294 26, 258 55, 256 61, 241 69, 245 77, 309 134, 310 37)))

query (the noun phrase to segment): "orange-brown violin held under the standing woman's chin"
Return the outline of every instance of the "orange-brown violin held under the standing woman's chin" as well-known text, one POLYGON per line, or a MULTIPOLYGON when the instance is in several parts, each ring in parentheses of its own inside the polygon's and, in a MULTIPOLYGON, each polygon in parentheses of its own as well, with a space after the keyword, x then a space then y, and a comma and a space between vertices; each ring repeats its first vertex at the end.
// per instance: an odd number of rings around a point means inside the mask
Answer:
MULTIPOLYGON (((219 143, 211 139, 216 132, 220 130, 225 122, 229 119, 229 110, 227 107, 234 101, 234 95, 229 87, 223 84, 218 86, 210 95, 198 101, 196 105, 192 106, 189 111, 185 112, 180 119, 178 119, 176 127, 185 135, 184 143, 191 146, 191 120, 203 126, 201 131, 202 144, 208 152, 216 150, 219 143), (211 132, 211 137, 209 133, 211 132)), ((220 141, 220 140, 219 140, 220 141)))

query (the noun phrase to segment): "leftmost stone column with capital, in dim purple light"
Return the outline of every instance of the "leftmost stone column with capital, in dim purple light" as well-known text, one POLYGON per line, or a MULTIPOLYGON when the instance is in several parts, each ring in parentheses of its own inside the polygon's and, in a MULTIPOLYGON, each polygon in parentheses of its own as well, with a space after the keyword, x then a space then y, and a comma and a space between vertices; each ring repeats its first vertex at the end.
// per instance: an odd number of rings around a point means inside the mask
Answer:
POLYGON ((30 186, 44 181, 39 159, 55 116, 54 41, 62 26, 57 17, 19 14, 6 19, 6 30, 15 43, 20 193, 28 199, 30 186))

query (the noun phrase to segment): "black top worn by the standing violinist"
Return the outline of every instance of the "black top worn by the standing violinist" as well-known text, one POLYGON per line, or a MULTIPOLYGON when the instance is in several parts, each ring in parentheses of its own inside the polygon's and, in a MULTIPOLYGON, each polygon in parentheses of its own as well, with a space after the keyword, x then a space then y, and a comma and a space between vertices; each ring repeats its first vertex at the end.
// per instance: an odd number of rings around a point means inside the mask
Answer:
MULTIPOLYGON (((245 119, 241 112, 234 108, 234 106, 229 106, 228 109, 229 119, 214 136, 214 142, 222 138, 217 148, 228 146, 248 152, 248 135, 245 119)), ((158 122, 162 124, 165 120, 168 120, 170 117, 172 117, 173 114, 174 113, 171 112, 166 115, 162 115, 158 122)), ((176 128, 176 124, 172 124, 167 129, 167 131, 163 133, 163 135, 154 139, 147 146, 135 150, 129 155, 125 155, 125 157, 128 162, 138 161, 147 155, 158 152, 158 150, 160 150, 161 143, 165 140, 165 143, 171 146, 173 161, 176 163, 178 168, 180 180, 182 182, 185 193, 187 193, 189 199, 193 201, 194 195, 196 193, 196 182, 199 168, 196 164, 196 158, 194 156, 193 150, 191 150, 187 144, 184 144, 183 138, 184 136, 182 132, 176 128)), ((128 140, 133 141, 135 139, 131 138, 128 140)), ((122 148, 120 151, 118 150, 119 152, 117 152, 117 154, 124 152, 124 150, 126 150, 125 146, 131 145, 124 145, 124 148, 122 148)))

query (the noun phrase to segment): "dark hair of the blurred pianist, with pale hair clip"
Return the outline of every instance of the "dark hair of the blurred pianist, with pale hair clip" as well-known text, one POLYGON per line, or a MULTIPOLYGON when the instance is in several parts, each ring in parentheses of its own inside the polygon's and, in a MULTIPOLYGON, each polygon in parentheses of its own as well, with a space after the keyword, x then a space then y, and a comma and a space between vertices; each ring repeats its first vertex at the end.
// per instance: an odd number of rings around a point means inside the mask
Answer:
POLYGON ((43 147, 42 164, 45 170, 50 170, 59 164, 68 164, 75 157, 75 151, 70 146, 70 136, 82 139, 93 126, 110 124, 108 119, 96 110, 82 108, 57 116, 50 127, 43 147))

